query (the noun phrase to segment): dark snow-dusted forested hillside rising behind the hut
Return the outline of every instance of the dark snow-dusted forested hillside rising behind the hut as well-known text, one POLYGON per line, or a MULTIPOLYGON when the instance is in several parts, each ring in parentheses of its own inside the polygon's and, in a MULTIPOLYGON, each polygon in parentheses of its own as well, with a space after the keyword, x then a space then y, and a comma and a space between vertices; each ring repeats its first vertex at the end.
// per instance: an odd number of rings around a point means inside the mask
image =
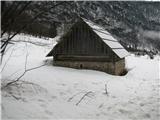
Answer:
MULTIPOLYGON (((123 46, 160 50, 160 2, 129 1, 70 1, 50 9, 58 2, 32 2, 13 29, 23 25, 37 13, 46 11, 24 32, 54 37, 77 18, 77 15, 103 26, 123 46)), ((2 25, 5 23, 2 19, 2 25)))

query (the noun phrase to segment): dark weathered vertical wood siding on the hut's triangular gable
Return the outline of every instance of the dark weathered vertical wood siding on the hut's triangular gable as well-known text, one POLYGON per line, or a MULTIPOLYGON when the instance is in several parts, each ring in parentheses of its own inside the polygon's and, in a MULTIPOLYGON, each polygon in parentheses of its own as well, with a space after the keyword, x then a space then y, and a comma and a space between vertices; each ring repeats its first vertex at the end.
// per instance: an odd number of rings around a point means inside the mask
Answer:
MULTIPOLYGON (((74 56, 105 56, 105 59, 110 61, 119 59, 112 49, 84 21, 77 22, 61 38, 59 44, 54 48, 53 55, 55 59, 58 59, 56 56, 63 55, 64 59, 66 56, 70 60, 76 59, 74 56), (67 55, 72 57, 68 57, 67 55)), ((83 58, 86 57, 81 57, 81 59, 83 58)))

